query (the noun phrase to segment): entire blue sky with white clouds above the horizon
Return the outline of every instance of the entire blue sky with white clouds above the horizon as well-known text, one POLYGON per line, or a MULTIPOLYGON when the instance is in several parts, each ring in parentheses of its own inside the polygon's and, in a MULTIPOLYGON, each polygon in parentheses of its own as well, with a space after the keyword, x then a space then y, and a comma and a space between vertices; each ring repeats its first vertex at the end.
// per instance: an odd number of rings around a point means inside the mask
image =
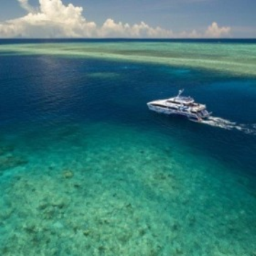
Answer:
POLYGON ((0 0, 0 38, 256 38, 256 0, 0 0))

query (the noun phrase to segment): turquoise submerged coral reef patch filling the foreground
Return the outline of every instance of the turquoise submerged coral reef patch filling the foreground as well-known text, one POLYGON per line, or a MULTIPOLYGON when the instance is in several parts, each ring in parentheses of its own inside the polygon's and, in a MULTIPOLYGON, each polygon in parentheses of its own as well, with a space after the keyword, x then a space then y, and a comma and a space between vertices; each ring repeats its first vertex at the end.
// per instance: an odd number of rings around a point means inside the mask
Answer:
POLYGON ((37 143, 51 143, 47 154, 30 153, 26 172, 1 186, 2 255, 250 255, 255 250, 255 228, 248 225, 255 198, 235 187, 218 162, 199 156, 184 161, 180 142, 128 127, 77 127, 72 136, 79 136, 84 148, 53 143, 61 131, 41 134, 37 143), (240 242, 230 247, 234 239, 240 242))

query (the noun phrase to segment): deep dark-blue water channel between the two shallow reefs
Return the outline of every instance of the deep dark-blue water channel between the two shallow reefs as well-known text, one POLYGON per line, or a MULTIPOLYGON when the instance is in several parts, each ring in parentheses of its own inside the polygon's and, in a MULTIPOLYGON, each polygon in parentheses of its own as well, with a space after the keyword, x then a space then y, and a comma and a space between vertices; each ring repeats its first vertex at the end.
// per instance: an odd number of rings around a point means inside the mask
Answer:
POLYGON ((194 124, 149 112, 146 102, 184 88, 217 117, 256 124, 256 80, 159 65, 76 60, 49 56, 1 56, 1 129, 27 129, 34 123, 125 123, 158 129, 193 144, 242 172, 256 174, 256 136, 194 124), (115 73, 117 78, 90 77, 115 73), (10 128, 12 127, 12 128, 10 128))

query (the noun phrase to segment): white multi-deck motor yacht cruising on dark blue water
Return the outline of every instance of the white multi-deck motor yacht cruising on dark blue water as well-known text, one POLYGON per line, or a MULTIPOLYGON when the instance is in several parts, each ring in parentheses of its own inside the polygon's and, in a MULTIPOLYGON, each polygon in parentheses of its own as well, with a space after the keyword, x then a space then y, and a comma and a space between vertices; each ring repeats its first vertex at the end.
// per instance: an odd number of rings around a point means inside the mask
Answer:
POLYGON ((149 110, 163 114, 180 114, 196 122, 201 122, 210 116, 211 113, 206 110, 206 105, 194 102, 192 97, 181 96, 182 92, 183 90, 179 90, 176 97, 166 100, 148 102, 149 110))

